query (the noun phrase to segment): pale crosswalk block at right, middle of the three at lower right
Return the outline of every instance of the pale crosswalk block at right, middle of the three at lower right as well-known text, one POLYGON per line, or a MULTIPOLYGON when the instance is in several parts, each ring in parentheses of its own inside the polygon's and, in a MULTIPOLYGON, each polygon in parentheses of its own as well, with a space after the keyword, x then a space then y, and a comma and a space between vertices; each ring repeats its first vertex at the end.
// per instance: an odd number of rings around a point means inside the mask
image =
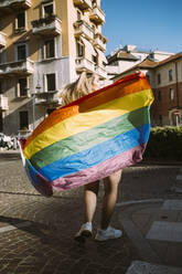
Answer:
POLYGON ((182 223, 154 221, 148 234, 146 235, 146 239, 168 242, 182 242, 182 223))

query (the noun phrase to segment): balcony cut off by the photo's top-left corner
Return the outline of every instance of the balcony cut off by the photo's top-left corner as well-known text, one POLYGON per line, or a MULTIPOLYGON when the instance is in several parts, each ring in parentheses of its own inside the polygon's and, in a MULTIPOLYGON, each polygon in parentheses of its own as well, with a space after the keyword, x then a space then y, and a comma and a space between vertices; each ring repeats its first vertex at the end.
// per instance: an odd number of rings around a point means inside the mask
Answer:
POLYGON ((14 12, 31 8, 32 0, 1 0, 0 12, 14 12))

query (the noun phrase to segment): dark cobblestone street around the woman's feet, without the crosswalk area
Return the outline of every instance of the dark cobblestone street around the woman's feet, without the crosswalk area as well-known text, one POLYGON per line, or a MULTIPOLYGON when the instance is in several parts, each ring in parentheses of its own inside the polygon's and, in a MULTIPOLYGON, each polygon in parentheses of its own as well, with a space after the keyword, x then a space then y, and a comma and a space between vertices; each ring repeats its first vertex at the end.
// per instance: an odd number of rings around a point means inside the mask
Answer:
MULTIPOLYGON (((161 201, 180 200, 182 193, 173 191, 180 169, 180 165, 144 164, 125 169, 113 219, 124 236, 105 243, 89 240, 79 245, 73 236, 83 222, 83 189, 55 193, 53 198, 41 197, 29 182, 19 155, 1 154, 0 274, 125 274, 131 262, 149 262, 150 257, 142 257, 144 250, 138 249, 133 233, 128 230, 125 204, 148 201, 156 202, 157 208, 161 201)), ((101 196, 100 186, 95 231, 101 196)), ((151 255, 151 263, 168 264, 162 255, 157 261, 151 255)), ((170 265, 182 267, 180 260, 171 261, 170 265)))

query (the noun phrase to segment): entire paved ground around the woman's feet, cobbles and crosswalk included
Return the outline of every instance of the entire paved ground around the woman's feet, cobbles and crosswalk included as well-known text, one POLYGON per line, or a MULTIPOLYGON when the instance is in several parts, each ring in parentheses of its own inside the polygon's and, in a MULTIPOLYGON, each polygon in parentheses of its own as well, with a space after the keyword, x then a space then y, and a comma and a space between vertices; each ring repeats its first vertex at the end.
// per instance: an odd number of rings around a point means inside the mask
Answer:
MULTIPOLYGON (((73 238, 83 222, 83 188, 41 197, 29 182, 19 154, 4 155, 0 274, 182 274, 182 193, 171 191, 176 178, 182 178, 180 165, 125 169, 113 218, 124 235, 79 245, 73 238)), ((94 234, 100 196, 101 186, 94 234)))

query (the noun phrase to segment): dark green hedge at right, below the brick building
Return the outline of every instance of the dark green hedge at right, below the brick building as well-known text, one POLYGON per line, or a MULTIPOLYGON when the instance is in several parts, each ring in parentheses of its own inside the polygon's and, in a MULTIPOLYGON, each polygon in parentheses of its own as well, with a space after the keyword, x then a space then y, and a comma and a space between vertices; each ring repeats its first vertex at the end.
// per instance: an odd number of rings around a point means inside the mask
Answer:
POLYGON ((151 128, 143 158, 182 160, 182 127, 151 128))

